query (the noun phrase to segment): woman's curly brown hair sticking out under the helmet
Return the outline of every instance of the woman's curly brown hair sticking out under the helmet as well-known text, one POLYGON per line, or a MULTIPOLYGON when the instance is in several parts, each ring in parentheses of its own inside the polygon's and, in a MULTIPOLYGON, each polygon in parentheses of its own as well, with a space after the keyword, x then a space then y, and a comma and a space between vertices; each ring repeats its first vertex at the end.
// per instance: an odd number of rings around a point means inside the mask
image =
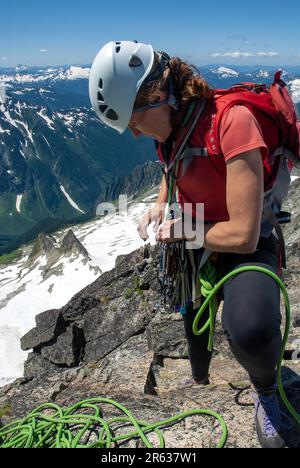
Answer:
MULTIPOLYGON (((158 66, 158 55, 155 54, 152 70, 158 66)), ((169 92, 170 74, 173 82, 174 95, 178 100, 178 110, 172 112, 172 127, 176 129, 182 122, 188 106, 193 101, 212 99, 215 95, 214 89, 202 78, 200 72, 194 65, 188 65, 178 57, 172 57, 169 67, 163 76, 140 88, 134 107, 142 107, 149 103, 151 96, 156 90, 169 92)))

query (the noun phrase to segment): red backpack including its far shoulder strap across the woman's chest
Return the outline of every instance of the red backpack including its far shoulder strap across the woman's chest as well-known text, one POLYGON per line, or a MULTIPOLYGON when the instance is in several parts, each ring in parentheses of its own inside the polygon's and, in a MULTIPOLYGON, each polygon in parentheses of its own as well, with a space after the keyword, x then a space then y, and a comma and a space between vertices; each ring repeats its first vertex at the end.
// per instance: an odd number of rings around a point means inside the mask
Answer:
MULTIPOLYGON (((275 229, 281 247, 280 263, 282 267, 286 268, 285 243, 280 224, 289 222, 290 214, 282 212, 281 205, 288 193, 290 172, 294 166, 300 167, 300 121, 297 119, 296 109, 287 85, 281 79, 281 76, 282 71, 277 71, 271 86, 264 83, 243 82, 229 89, 217 89, 216 99, 220 100, 222 104, 218 107, 218 112, 214 116, 215 120, 212 123, 211 135, 216 143, 215 152, 218 154, 220 152, 217 142, 219 124, 224 113, 234 105, 244 105, 253 114, 257 114, 256 111, 258 111, 264 115, 264 119, 270 119, 272 125, 268 126, 267 132, 271 133, 274 132, 274 129, 278 129, 276 139, 279 140, 279 145, 277 148, 272 148, 272 154, 270 154, 268 160, 270 170, 274 167, 276 171, 271 186, 264 193, 262 225, 271 225, 275 229)), ((178 179, 174 174, 176 162, 183 161, 184 170, 182 174, 191 163, 195 152, 193 148, 188 147, 188 141, 193 131, 197 129, 204 109, 205 102, 194 107, 190 123, 182 132, 178 148, 174 151, 174 158, 171 163, 166 164, 165 161, 164 172, 166 175, 171 174, 173 178, 178 179)), ((268 140, 272 140, 271 134, 264 136, 269 137, 268 140)), ((197 150, 197 154, 201 156, 199 148, 197 150)), ((200 150, 203 153, 207 151, 207 148, 200 148, 200 150)))

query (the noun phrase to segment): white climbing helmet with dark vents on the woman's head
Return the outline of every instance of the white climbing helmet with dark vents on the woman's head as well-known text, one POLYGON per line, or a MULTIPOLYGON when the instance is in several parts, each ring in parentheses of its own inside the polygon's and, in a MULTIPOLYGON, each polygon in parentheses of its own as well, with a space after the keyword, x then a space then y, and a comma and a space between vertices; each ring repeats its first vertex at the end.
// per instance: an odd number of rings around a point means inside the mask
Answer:
POLYGON ((128 127, 137 93, 154 62, 151 45, 136 41, 108 42, 96 56, 89 94, 97 116, 123 133, 128 127))

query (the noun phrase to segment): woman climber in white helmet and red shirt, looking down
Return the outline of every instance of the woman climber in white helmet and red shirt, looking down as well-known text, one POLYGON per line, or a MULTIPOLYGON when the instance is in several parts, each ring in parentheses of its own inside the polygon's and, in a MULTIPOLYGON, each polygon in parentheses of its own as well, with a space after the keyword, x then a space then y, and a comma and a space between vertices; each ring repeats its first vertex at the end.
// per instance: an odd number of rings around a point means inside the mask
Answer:
MULTIPOLYGON (((272 221, 287 194, 290 165, 284 157, 271 160, 280 147, 280 132, 259 105, 243 102, 245 89, 218 94, 181 59, 154 51, 151 45, 120 41, 100 50, 89 90, 105 125, 119 133, 129 128, 135 137, 155 140, 164 175, 155 205, 139 223, 142 239, 148 238, 152 221, 160 225, 159 242, 188 239, 185 233, 174 237, 182 217, 164 219, 172 179, 183 211, 186 203, 193 213, 197 203, 204 204, 204 242, 198 260, 204 252, 213 252, 211 258, 222 275, 246 265, 280 274, 284 251, 276 234, 278 223, 274 226, 272 221)), ((249 90, 251 99, 259 96, 249 90)), ((279 288, 269 276, 247 271, 225 283, 220 299, 225 335, 254 389, 259 441, 263 447, 283 447, 275 377, 282 345, 279 288)), ((192 302, 183 317, 192 376, 195 383, 205 385, 212 355, 208 331, 201 336, 192 331, 197 310, 192 302)), ((202 323, 206 320, 207 315, 202 323)))

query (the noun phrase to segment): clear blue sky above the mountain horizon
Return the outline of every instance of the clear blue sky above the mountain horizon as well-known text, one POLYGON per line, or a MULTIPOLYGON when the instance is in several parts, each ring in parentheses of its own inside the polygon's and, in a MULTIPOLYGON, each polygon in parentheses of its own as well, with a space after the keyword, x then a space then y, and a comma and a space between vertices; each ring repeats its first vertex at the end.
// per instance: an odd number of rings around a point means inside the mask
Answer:
POLYGON ((137 39, 196 65, 300 65, 300 0, 9 0, 0 67, 89 64, 110 40, 137 39))

